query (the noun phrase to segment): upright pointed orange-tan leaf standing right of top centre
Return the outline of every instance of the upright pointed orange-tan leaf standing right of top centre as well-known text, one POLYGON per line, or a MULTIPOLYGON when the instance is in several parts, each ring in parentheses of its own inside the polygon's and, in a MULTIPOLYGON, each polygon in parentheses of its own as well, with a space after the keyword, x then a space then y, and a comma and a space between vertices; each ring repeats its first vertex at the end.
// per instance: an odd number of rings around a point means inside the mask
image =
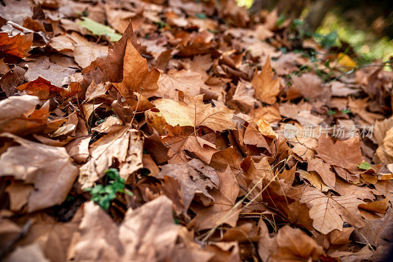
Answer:
POLYGON ((267 104, 276 103, 276 97, 280 93, 280 79, 273 79, 274 72, 270 65, 270 58, 266 59, 266 63, 261 73, 255 73, 251 83, 255 88, 255 95, 260 101, 267 104))

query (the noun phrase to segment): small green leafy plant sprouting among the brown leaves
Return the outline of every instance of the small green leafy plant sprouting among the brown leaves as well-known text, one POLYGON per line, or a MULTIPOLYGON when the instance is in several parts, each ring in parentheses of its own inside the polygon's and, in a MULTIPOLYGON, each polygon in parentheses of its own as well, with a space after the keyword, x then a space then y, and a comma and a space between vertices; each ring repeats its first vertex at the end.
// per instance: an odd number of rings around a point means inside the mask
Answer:
POLYGON ((90 192, 91 200, 97 203, 102 209, 108 210, 111 205, 111 201, 116 198, 116 193, 125 193, 133 196, 130 191, 125 191, 125 181, 120 177, 119 171, 115 168, 110 168, 105 173, 108 175, 111 181, 106 186, 97 184, 94 187, 86 188, 84 191, 90 192))

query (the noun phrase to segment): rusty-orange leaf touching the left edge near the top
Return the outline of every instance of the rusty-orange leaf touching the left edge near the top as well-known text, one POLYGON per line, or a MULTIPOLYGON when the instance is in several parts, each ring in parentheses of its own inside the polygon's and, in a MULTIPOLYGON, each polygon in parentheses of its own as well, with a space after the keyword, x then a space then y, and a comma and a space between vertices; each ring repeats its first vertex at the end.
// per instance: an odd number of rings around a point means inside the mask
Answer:
POLYGON ((17 57, 27 57, 33 44, 33 34, 17 34, 9 37, 8 33, 0 33, 0 53, 17 57))

